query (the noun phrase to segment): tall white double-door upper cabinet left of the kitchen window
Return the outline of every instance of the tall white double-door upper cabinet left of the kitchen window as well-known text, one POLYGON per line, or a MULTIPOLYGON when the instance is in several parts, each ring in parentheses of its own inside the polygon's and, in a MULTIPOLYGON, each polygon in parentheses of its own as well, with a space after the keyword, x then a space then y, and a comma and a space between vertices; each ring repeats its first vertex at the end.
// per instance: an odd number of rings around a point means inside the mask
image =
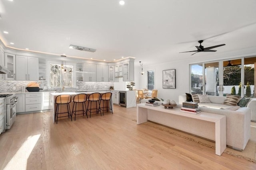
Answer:
POLYGON ((16 55, 16 80, 38 80, 38 58, 16 55))

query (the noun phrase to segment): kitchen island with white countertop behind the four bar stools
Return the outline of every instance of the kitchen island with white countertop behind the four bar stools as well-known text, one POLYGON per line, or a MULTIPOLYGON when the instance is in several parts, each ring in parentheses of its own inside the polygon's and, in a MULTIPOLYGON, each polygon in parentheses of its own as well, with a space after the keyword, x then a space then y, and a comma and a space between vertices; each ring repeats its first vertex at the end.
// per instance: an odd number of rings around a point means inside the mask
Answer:
MULTIPOLYGON (((98 93, 100 93, 100 94, 104 94, 104 93, 107 93, 107 92, 109 92, 109 91, 90 91, 90 92, 57 92, 57 93, 51 93, 51 117, 52 117, 52 120, 54 121, 54 114, 55 114, 55 111, 56 111, 56 104, 54 103, 55 102, 55 98, 57 97, 57 96, 59 96, 59 95, 62 95, 62 94, 69 94, 69 95, 71 95, 72 96, 72 98, 71 98, 71 103, 70 103, 70 112, 72 113, 72 108, 73 108, 73 98, 74 98, 74 96, 76 96, 77 94, 87 94, 87 99, 88 99, 88 96, 90 95, 90 94, 92 94, 92 93, 96 93, 96 92, 98 92, 98 93)), ((88 104, 88 100, 86 99, 86 107, 87 107, 87 104, 88 104)), ((106 106, 106 102, 107 101, 104 101, 105 103, 104 103, 104 106, 106 106)), ((111 105, 112 105, 112 109, 113 109, 113 97, 111 98, 111 105)), ((100 106, 102 106, 103 107, 103 102, 101 103, 101 105, 100 106)), ((93 108, 95 108, 95 103, 93 103, 92 104, 92 107, 93 108)), ((90 108, 90 106, 89 106, 89 108, 90 108)), ((77 107, 77 110, 80 110, 80 109, 82 109, 82 105, 81 105, 81 107, 79 106, 79 107, 77 107)), ((67 107, 66 107, 66 105, 63 105, 63 106, 61 106, 60 105, 60 107, 59 107, 59 112, 66 112, 67 111, 67 107)), ((113 112, 114 112, 114 110, 113 110, 113 112)), ((96 113, 94 113, 94 114, 96 114, 96 113)), ((68 113, 67 113, 67 115, 68 115, 68 113)))

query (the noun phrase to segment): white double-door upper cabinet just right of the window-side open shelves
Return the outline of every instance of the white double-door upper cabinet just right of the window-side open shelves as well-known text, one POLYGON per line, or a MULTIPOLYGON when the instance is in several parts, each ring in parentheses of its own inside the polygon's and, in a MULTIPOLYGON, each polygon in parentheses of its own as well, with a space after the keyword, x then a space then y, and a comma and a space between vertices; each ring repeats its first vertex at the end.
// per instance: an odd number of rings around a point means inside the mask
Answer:
POLYGON ((96 82, 96 64, 84 63, 84 81, 96 82))

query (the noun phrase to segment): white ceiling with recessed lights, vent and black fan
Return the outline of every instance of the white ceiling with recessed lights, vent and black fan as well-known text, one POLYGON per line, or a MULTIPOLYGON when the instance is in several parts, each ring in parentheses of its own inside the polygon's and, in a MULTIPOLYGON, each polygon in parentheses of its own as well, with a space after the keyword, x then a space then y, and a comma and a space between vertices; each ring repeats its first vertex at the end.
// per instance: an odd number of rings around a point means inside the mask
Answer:
POLYGON ((179 53, 196 50, 200 39, 204 47, 226 44, 214 55, 256 52, 256 0, 124 1, 1 0, 0 39, 21 50, 102 61, 135 57, 144 65, 213 55, 179 53))

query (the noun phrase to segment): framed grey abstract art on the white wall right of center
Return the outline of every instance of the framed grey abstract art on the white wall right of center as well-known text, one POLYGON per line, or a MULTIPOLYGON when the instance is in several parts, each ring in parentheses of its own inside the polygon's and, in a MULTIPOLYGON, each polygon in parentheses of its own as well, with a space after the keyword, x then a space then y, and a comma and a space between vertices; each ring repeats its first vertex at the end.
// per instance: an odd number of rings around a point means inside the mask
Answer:
POLYGON ((175 69, 163 70, 163 88, 176 88, 175 69))

